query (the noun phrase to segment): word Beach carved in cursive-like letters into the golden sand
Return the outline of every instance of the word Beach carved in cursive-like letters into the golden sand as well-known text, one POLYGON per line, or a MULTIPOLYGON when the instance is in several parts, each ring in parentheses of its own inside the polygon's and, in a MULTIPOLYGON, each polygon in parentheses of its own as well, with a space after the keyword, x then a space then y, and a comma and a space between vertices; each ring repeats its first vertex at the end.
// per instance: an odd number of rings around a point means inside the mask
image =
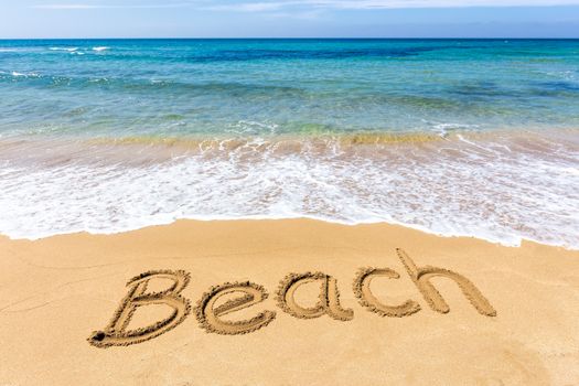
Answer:
MULTIPOLYGON (((417 267, 414 260, 401 249, 397 255, 408 276, 414 281, 428 305, 436 312, 448 313, 449 305, 431 283, 433 277, 453 280, 479 313, 495 317, 496 311, 479 289, 464 276, 443 268, 417 267)), ((421 307, 414 300, 401 304, 385 304, 371 291, 371 282, 376 277, 399 279, 400 276, 389 268, 361 268, 353 282, 354 294, 360 304, 380 317, 403 318, 420 311, 421 307)), ((120 302, 109 324, 103 331, 95 331, 88 342, 97 347, 126 346, 157 337, 183 322, 191 312, 187 299, 181 296, 190 280, 183 270, 158 270, 141 274, 129 280, 129 291, 120 302), (159 292, 147 292, 148 283, 153 279, 169 279, 172 285, 159 292), (144 328, 129 330, 132 315, 140 307, 164 304, 172 309, 171 314, 144 328)), ((212 287, 205 292, 195 307, 195 315, 206 332, 236 335, 246 334, 265 328, 276 319, 276 311, 266 310, 245 320, 224 320, 226 314, 234 313, 258 304, 268 298, 267 290, 254 282, 226 282, 212 287)), ((276 291, 278 307, 286 313, 299 319, 314 319, 328 315, 334 320, 350 321, 354 318, 352 309, 340 303, 337 281, 323 272, 289 274, 276 291), (320 285, 318 302, 313 307, 300 305, 296 292, 301 286, 310 282, 320 285)))

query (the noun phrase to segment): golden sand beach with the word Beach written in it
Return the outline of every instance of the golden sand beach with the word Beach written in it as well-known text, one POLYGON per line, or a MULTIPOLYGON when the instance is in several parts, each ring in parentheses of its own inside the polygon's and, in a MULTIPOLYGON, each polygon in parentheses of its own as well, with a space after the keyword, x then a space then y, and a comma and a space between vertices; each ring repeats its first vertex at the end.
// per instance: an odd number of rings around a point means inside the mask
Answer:
POLYGON ((579 253, 305 219, 2 237, 0 358, 2 386, 579 385, 579 253))

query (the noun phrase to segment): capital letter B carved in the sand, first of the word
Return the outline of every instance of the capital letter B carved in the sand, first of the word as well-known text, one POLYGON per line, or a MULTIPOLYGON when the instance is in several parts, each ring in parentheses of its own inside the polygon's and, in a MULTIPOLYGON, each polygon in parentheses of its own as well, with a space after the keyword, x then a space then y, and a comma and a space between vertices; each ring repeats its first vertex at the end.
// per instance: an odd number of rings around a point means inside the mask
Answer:
POLYGON ((182 270, 159 270, 141 274, 127 283, 129 292, 122 299, 112 320, 104 331, 95 331, 88 342, 97 347, 126 346, 157 337, 181 323, 190 311, 189 301, 180 293, 189 283, 189 274, 182 270), (169 279, 173 285, 161 292, 144 293, 147 285, 153 279, 169 279), (173 309, 171 315, 154 324, 137 330, 127 330, 139 307, 165 304, 173 309))

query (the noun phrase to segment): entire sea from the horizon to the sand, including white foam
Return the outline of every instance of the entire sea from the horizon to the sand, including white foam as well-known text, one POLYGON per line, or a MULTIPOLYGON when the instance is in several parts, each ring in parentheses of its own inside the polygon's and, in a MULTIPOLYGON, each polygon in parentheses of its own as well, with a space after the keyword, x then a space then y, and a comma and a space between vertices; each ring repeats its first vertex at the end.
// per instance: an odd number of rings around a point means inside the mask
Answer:
POLYGON ((399 223, 579 247, 579 40, 0 41, 0 233, 399 223))

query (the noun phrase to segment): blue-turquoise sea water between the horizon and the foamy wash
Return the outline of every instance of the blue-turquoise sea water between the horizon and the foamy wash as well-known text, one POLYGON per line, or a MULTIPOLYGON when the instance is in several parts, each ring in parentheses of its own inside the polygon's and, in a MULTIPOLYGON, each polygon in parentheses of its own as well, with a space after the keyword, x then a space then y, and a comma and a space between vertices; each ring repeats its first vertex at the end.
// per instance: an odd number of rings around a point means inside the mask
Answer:
POLYGON ((578 68, 578 40, 0 41, 0 130, 203 135, 250 117, 286 132, 577 127, 578 68), (33 95, 43 103, 23 116, 33 95), (25 119, 6 121, 15 106, 25 119))

